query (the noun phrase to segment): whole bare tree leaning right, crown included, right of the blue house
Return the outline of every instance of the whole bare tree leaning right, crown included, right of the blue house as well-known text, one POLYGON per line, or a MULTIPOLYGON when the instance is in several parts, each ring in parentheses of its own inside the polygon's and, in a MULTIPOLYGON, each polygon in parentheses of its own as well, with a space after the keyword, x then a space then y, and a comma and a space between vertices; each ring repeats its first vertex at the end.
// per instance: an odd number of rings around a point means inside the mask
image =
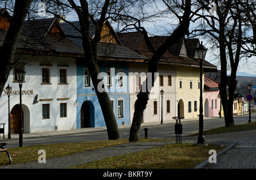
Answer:
MULTIPOLYGON (((189 22, 192 18, 191 1, 119 1, 118 7, 112 13, 113 15, 117 15, 115 16, 115 20, 121 23, 120 26, 123 27, 122 31, 135 29, 143 34, 148 49, 153 53, 151 59, 148 61, 148 72, 154 74, 157 71, 159 59, 166 53, 167 49, 172 44, 179 42, 180 37, 189 34, 189 22), (147 8, 150 8, 150 11, 147 11, 147 8), (145 22, 154 24, 154 20, 162 16, 168 16, 170 19, 175 17, 179 25, 176 26, 171 35, 168 36, 167 40, 158 49, 154 49, 148 37, 147 29, 143 25, 145 22)), ((171 31, 171 29, 168 30, 171 31)), ((141 90, 137 95, 137 104, 130 128, 130 142, 137 142, 139 140, 143 112, 146 109, 152 88, 152 85, 147 85, 147 83, 153 83, 154 80, 154 76, 147 76, 142 84, 142 86, 147 87, 146 92, 141 90)))

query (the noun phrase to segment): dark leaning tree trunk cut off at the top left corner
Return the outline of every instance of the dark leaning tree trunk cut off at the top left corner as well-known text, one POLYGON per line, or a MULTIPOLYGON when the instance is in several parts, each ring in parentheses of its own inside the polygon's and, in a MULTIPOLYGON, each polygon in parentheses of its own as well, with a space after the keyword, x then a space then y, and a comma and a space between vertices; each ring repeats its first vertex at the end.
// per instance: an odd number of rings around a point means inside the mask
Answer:
POLYGON ((19 35, 31 2, 32 0, 15 1, 13 17, 10 20, 10 27, 0 52, 0 96, 2 95, 3 89, 5 89, 5 83, 15 63, 14 54, 16 44, 19 40, 19 35))

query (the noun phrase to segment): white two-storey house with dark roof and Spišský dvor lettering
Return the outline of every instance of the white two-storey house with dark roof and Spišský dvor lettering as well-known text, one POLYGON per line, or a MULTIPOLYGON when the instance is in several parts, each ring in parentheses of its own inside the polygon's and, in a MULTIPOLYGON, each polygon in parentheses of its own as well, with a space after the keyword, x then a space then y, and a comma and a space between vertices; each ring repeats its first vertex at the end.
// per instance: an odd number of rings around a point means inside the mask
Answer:
MULTIPOLYGON (((6 29, 1 29, 0 33, 5 35, 6 29)), ((61 36, 61 33, 62 29, 55 18, 33 20, 24 24, 16 49, 17 57, 20 52, 22 55, 14 63, 5 86, 9 84, 12 87, 11 133, 19 133, 20 90, 16 71, 20 67, 26 71, 22 84, 23 132, 76 128, 76 58, 81 57, 83 51, 61 36)), ((0 98, 0 123, 6 124, 5 134, 9 131, 8 105, 5 89, 0 98)))

